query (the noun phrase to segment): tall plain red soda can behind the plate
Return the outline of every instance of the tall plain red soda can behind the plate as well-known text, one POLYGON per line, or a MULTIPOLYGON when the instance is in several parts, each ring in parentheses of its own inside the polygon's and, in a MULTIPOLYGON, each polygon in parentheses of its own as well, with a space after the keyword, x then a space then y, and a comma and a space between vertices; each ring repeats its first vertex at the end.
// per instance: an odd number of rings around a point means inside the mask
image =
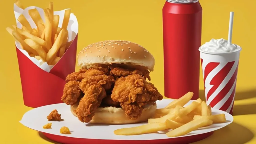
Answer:
POLYGON ((164 94, 199 98, 202 7, 198 0, 166 0, 163 7, 164 94))

